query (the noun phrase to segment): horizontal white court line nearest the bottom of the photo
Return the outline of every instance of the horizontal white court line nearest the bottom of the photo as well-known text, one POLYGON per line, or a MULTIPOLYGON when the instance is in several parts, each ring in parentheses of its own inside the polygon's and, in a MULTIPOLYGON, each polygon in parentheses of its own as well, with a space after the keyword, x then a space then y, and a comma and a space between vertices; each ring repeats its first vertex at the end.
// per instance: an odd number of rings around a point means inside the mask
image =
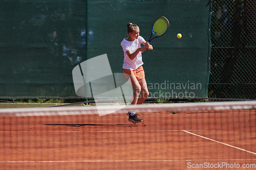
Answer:
POLYGON ((70 160, 70 161, 0 161, 0 163, 58 163, 58 162, 174 162, 174 161, 245 161, 256 159, 156 159, 156 160, 70 160))

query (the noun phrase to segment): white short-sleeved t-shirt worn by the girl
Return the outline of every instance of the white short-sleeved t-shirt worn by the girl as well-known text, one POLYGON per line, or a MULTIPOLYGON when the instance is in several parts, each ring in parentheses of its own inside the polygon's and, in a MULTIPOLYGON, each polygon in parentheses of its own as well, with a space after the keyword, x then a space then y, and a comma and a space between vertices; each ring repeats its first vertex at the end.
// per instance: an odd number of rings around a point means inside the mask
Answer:
POLYGON ((140 44, 145 40, 141 36, 139 36, 138 39, 135 39, 134 41, 127 41, 126 39, 127 38, 124 38, 121 42, 124 55, 123 68, 135 70, 143 64, 141 52, 139 52, 133 60, 131 60, 125 52, 131 50, 131 52, 134 53, 139 47, 141 47, 140 44))

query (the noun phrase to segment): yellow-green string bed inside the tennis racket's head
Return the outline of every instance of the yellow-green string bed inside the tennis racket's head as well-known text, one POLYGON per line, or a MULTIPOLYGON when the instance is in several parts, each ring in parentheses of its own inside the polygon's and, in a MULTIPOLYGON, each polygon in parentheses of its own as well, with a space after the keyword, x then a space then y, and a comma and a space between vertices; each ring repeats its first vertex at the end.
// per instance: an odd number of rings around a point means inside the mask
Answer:
POLYGON ((163 35, 169 27, 169 23, 166 19, 164 18, 159 18, 155 21, 154 26, 153 26, 153 34, 156 36, 161 36, 163 35))

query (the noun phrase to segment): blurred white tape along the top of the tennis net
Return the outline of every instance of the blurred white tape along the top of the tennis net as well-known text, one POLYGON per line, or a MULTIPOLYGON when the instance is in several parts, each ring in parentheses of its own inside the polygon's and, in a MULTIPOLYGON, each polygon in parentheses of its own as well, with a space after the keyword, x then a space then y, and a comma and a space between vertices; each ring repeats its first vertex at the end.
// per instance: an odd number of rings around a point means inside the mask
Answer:
POLYGON ((80 107, 47 107, 47 108, 11 108, 0 109, 0 116, 44 116, 44 115, 75 115, 125 113, 127 111, 182 111, 182 110, 230 110, 253 109, 256 101, 243 102, 205 102, 147 105, 111 105, 111 106, 80 106, 80 107))

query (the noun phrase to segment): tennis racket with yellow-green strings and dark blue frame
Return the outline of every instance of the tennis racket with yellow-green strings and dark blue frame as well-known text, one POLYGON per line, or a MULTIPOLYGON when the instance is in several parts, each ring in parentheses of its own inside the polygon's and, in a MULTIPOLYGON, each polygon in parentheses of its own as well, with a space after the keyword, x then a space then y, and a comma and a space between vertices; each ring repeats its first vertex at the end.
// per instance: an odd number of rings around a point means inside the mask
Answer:
POLYGON ((168 19, 165 18, 164 16, 160 16, 155 20, 153 24, 150 40, 148 40, 147 42, 150 42, 157 37, 161 37, 167 32, 168 28, 169 28, 168 19), (155 37, 152 38, 152 35, 154 35, 155 37))

